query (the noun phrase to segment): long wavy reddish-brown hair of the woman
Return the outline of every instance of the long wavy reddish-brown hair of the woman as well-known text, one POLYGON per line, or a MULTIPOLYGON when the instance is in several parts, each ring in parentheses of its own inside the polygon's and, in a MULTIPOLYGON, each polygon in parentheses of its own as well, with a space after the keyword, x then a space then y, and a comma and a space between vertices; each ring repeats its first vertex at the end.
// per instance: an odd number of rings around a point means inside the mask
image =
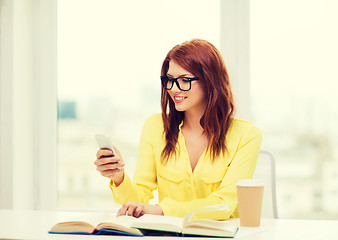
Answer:
MULTIPOLYGON (((161 75, 166 75, 169 62, 174 61, 188 72, 198 77, 208 99, 200 124, 208 138, 208 151, 212 161, 227 151, 226 133, 234 115, 234 99, 228 71, 216 47, 206 40, 193 39, 176 45, 163 61, 161 75)), ((161 153, 161 161, 167 163, 176 154, 179 125, 184 112, 177 111, 175 103, 163 88, 161 108, 166 145, 161 153)))

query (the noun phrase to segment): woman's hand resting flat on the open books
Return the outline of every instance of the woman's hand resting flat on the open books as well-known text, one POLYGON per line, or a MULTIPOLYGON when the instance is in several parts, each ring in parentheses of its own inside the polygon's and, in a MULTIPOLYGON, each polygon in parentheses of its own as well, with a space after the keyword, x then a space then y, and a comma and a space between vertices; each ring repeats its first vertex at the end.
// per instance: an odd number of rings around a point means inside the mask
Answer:
POLYGON ((117 216, 129 215, 137 218, 143 214, 163 215, 163 211, 159 205, 150 205, 135 201, 123 204, 117 212, 117 216))

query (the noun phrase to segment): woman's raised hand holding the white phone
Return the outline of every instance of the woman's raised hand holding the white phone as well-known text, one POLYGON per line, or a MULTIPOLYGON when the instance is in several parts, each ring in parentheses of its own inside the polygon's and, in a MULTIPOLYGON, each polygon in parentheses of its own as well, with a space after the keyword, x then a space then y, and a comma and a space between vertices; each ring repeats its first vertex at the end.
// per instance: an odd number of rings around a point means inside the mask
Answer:
POLYGON ((112 181, 114 181, 116 186, 119 186, 124 178, 124 162, 122 160, 119 150, 115 147, 114 150, 116 155, 112 157, 112 150, 98 150, 96 153, 96 160, 94 164, 96 165, 97 171, 99 171, 102 176, 111 179, 112 181))

